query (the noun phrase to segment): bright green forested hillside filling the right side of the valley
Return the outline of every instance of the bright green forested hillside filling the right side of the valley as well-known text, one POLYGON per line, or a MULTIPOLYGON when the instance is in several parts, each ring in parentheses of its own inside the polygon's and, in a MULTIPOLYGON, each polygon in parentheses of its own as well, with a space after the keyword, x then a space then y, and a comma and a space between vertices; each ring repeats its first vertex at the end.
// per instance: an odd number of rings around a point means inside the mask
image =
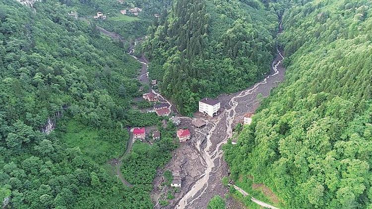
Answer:
POLYGON ((287 6, 286 81, 224 148, 232 178, 288 208, 372 208, 372 3, 287 6))

